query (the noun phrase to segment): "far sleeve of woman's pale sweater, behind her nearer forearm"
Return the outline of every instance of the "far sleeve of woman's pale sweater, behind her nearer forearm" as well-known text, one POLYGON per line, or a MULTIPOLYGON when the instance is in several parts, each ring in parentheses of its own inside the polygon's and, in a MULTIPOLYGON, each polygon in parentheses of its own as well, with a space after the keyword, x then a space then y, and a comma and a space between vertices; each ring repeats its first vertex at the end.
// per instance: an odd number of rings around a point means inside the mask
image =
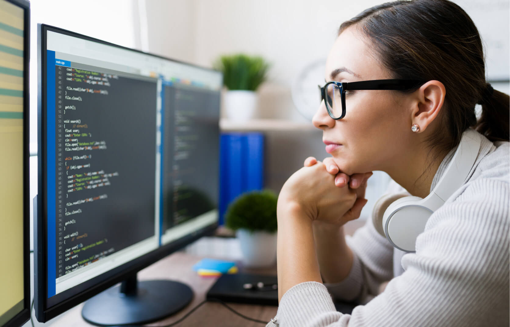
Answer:
MULTIPOLYGON (((403 187, 392 181, 386 194, 403 191, 403 187)), ((372 215, 377 211, 374 208, 372 215)), ((353 254, 349 275, 340 283, 324 285, 337 299, 367 303, 378 294, 382 282, 393 278, 393 246, 376 231, 372 219, 367 219, 352 237, 346 236, 346 242, 353 254)))

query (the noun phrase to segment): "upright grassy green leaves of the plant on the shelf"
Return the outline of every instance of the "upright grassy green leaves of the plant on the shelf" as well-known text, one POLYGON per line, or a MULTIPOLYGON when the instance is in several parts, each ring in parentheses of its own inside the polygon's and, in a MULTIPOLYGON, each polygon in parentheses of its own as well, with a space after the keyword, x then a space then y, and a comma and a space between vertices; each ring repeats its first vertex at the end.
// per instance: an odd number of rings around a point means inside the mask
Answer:
POLYGON ((223 72, 223 84, 229 90, 255 91, 267 80, 270 65, 262 57, 236 54, 220 56, 213 67, 223 72))

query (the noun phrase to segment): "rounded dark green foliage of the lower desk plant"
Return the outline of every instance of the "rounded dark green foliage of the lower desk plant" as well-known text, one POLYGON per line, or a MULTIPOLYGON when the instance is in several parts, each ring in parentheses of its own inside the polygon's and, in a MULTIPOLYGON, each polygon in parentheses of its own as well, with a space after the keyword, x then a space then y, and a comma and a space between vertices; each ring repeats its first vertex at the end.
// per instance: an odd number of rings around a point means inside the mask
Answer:
POLYGON ((276 202, 269 190, 246 192, 234 199, 225 213, 225 225, 232 230, 273 233, 277 229, 276 202))

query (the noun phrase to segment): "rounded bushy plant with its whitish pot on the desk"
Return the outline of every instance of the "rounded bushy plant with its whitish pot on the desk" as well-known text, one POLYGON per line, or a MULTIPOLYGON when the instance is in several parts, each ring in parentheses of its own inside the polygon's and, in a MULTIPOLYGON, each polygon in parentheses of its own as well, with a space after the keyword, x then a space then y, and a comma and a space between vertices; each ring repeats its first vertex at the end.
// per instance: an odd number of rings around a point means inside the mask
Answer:
POLYGON ((244 265, 263 267, 276 260, 276 202, 271 191, 250 191, 228 206, 225 225, 236 231, 244 265))

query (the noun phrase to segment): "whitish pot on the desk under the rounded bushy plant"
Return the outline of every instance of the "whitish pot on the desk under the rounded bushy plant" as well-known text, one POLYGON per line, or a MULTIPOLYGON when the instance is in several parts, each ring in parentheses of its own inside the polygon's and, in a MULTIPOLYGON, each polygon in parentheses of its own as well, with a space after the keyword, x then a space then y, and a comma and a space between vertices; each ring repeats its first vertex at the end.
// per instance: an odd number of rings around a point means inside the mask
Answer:
POLYGON ((246 267, 271 266, 276 261, 276 232, 237 230, 246 267))

